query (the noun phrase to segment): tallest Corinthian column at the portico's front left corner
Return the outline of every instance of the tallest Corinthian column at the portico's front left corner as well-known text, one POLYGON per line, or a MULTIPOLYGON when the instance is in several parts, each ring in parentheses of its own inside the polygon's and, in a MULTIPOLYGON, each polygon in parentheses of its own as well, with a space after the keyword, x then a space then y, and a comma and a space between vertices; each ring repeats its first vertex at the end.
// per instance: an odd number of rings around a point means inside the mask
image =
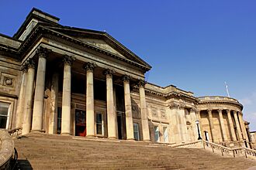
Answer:
POLYGON ((43 97, 44 97, 44 83, 45 83, 45 72, 47 66, 47 53, 49 50, 40 47, 36 50, 38 55, 38 65, 36 73, 36 89, 33 106, 33 122, 31 131, 42 131, 43 130, 43 97))

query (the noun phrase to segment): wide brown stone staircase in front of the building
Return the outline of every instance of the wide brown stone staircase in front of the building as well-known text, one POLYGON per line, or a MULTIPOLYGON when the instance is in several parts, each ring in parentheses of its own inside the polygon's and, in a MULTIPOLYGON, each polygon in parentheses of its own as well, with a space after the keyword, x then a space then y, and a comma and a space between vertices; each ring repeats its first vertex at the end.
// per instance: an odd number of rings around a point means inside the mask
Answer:
POLYGON ((256 162, 203 149, 50 134, 15 139, 19 169, 247 169, 256 162))

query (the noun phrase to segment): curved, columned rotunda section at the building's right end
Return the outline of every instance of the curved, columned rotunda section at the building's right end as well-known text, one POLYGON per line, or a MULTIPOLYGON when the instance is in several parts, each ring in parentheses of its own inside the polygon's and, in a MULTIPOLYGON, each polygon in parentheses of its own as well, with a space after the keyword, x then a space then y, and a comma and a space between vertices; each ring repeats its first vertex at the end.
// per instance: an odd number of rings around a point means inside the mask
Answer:
MULTIPOLYGON (((243 106, 230 97, 198 97, 197 109, 202 138, 216 143, 244 145, 248 142, 243 106)), ((232 145, 230 145, 232 146, 232 145)))

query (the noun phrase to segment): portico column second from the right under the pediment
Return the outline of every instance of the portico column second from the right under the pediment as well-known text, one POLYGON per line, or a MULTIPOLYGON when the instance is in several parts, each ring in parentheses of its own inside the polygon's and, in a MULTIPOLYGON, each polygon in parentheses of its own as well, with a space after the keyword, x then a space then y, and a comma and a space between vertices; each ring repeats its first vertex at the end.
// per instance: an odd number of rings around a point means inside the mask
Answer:
POLYGON ((123 76, 124 103, 126 109, 126 139, 133 140, 133 114, 130 100, 130 76, 123 76))

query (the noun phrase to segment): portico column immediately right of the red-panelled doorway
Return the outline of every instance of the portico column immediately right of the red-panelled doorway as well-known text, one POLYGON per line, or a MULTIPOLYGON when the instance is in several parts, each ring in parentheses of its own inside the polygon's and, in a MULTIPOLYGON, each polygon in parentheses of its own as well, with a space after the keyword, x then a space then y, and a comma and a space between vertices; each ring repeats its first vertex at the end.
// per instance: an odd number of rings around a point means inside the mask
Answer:
POLYGON ((86 63, 86 136, 95 136, 94 90, 93 90, 93 63, 86 63))

